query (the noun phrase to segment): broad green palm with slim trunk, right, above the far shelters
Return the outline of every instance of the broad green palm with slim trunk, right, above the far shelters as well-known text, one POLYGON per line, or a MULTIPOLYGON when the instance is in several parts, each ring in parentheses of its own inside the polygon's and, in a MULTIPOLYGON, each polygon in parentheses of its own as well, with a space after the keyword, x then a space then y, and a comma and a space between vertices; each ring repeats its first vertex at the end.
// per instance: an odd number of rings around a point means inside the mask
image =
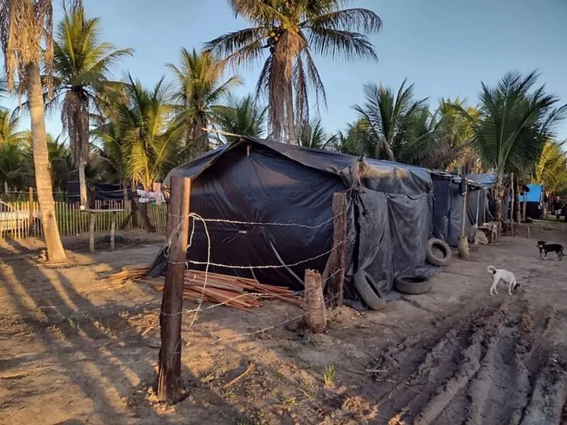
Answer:
POLYGON ((544 86, 532 91, 537 77, 536 72, 526 77, 509 72, 495 87, 482 84, 475 144, 483 164, 496 174, 498 223, 502 220, 505 173, 517 170, 518 166, 533 166, 545 143, 554 137, 554 125, 567 113, 567 105, 556 108, 558 98, 546 94, 544 86))

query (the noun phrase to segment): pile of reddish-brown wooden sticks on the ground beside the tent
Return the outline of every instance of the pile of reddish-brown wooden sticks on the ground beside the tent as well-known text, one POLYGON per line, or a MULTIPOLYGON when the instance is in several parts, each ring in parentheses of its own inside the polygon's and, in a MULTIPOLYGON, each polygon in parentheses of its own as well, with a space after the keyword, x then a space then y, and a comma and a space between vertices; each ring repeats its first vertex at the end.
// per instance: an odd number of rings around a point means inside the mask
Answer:
MULTIPOLYGON (((107 276, 107 279, 113 282, 141 279, 145 277, 147 271, 147 267, 140 266, 123 268, 121 271, 107 276)), ((153 288, 162 291, 164 284, 154 283, 153 288)), ((214 302, 240 310, 259 306, 260 299, 277 299, 294 305, 304 305, 301 297, 282 286, 265 285, 255 279, 196 270, 185 271, 183 297, 184 300, 214 302)))

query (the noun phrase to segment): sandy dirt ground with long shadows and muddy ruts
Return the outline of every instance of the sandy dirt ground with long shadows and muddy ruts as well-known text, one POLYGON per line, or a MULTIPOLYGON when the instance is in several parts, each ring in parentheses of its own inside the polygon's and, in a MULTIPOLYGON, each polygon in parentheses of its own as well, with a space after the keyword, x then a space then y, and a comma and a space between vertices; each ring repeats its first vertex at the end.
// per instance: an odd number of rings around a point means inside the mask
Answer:
POLYGON ((192 327, 187 312, 174 407, 154 392, 161 294, 99 280, 159 244, 58 268, 40 246, 0 246, 0 424, 566 424, 567 261, 539 261, 540 238, 567 245, 567 224, 480 246, 381 312, 332 311, 325 334, 281 325, 302 314, 281 302, 215 307, 192 327), (489 264, 520 292, 490 297, 489 264))

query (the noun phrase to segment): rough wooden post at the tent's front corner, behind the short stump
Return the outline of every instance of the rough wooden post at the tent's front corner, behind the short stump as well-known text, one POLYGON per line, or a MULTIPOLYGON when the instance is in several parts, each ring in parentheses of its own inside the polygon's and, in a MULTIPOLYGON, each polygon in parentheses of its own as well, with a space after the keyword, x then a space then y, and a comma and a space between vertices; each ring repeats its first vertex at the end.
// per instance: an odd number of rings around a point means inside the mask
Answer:
POLYGON ((332 196, 333 233, 332 246, 322 275, 322 288, 327 286, 329 307, 341 307, 343 301, 344 269, 347 266, 347 193, 332 196), (327 284, 328 280, 328 284, 327 284))

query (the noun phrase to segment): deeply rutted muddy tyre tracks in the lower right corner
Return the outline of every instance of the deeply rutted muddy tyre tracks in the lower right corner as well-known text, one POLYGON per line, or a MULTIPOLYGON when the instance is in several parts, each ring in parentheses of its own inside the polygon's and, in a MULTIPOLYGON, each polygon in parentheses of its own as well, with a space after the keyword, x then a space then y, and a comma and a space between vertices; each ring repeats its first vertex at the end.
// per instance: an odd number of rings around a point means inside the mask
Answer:
POLYGON ((564 319, 522 302, 444 319, 378 358, 378 404, 416 425, 563 423, 566 350, 554 329, 564 319))

